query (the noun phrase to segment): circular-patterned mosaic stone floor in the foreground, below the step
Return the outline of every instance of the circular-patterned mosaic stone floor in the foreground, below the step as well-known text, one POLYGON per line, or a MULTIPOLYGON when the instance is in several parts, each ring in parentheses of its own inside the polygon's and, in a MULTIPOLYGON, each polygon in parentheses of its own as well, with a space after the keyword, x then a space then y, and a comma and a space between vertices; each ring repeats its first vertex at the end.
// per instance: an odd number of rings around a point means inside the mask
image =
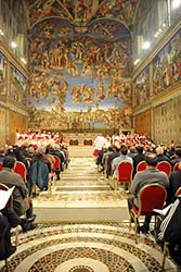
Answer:
MULTIPOLYGON (((20 234, 10 272, 160 272, 163 254, 152 236, 133 239, 126 224, 38 225, 20 234)), ((5 272, 3 262, 0 271, 5 272)), ((167 259, 166 270, 176 271, 167 259)))

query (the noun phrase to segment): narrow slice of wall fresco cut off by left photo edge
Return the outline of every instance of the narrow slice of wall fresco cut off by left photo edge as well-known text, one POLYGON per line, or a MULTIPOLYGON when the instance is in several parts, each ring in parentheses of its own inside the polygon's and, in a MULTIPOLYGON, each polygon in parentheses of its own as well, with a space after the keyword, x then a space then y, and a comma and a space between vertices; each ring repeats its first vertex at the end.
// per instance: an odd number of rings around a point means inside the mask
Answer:
POLYGON ((7 94, 7 60, 0 52, 0 94, 7 94))

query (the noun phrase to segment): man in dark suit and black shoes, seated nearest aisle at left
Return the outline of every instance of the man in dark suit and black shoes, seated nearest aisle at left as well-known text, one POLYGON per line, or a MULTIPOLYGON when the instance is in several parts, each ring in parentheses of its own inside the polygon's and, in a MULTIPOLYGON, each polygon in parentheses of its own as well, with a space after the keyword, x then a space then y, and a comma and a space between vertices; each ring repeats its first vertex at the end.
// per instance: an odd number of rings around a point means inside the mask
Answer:
POLYGON ((33 202, 28 198, 28 191, 26 184, 22 176, 13 171, 15 165, 15 158, 5 156, 3 160, 3 169, 0 171, 0 183, 8 187, 15 186, 13 190, 13 209, 18 217, 26 214, 26 219, 21 219, 20 225, 23 232, 34 230, 36 227, 33 224, 36 215, 33 214, 33 202))

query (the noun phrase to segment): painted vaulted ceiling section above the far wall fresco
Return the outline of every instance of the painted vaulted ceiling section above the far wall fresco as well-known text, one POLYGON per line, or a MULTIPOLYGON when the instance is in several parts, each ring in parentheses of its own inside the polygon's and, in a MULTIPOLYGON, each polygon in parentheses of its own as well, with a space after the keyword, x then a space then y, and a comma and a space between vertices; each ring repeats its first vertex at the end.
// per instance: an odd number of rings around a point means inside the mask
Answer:
POLYGON ((104 28, 105 37, 109 38, 111 29, 107 29, 105 20, 113 21, 115 33, 118 25, 119 28, 122 25, 129 30, 138 0, 27 0, 27 2, 29 28, 40 21, 56 16, 68 21, 77 33, 87 33, 93 28, 98 34, 99 29, 104 28))

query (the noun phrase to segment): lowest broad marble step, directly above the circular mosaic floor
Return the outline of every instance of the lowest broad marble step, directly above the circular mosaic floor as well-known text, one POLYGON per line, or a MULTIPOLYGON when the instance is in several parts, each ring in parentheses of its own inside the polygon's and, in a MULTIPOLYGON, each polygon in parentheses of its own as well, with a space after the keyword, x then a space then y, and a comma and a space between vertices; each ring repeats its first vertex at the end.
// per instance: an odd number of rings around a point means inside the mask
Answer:
POLYGON ((125 191, 43 191, 33 201, 37 223, 129 220, 125 191))

